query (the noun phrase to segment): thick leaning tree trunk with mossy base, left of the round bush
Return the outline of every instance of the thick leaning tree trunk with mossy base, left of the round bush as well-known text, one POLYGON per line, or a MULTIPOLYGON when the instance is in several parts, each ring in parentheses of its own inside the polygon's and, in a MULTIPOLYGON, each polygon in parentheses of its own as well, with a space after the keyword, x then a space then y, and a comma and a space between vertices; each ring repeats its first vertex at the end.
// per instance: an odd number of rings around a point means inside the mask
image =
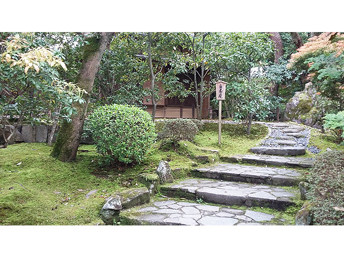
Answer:
POLYGON ((78 87, 87 91, 87 94, 83 94, 83 99, 86 102, 84 104, 78 102, 73 104, 77 114, 72 116, 72 122, 63 122, 57 135, 51 156, 61 161, 72 161, 76 158, 94 78, 110 36, 112 36, 112 33, 102 32, 85 38, 89 44, 84 46, 82 64, 79 73, 76 75, 76 83, 78 87))

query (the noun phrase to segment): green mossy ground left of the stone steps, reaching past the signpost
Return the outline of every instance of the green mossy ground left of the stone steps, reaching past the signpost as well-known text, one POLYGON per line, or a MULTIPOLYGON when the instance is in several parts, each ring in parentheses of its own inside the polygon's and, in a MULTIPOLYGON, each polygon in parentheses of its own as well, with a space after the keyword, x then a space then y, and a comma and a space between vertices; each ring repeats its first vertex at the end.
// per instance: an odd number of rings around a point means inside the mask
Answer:
POLYGON ((105 198, 117 190, 144 186, 138 182, 139 174, 153 173, 160 160, 169 161, 172 169, 183 168, 175 177, 184 178, 191 168, 202 165, 195 156, 217 156, 207 148, 246 153, 266 133, 264 127, 254 125, 247 137, 240 125, 224 125, 220 147, 216 124, 205 125, 195 143, 182 142, 174 150, 171 146, 159 148, 160 142, 156 142, 143 163, 116 168, 99 166, 101 157, 95 146, 81 145, 75 161, 61 162, 50 156, 52 147, 46 144, 10 145, 0 149, 0 224, 102 224, 99 211, 105 198), (85 199, 93 189, 98 192, 85 199))

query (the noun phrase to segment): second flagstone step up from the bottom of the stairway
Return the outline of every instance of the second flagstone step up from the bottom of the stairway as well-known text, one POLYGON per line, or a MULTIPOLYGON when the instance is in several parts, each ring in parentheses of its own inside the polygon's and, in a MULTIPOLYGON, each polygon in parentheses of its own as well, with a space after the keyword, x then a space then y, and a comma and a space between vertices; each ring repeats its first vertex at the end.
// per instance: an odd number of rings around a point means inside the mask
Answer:
POLYGON ((298 191, 269 185, 222 182, 219 180, 188 179, 172 185, 160 186, 160 192, 169 197, 190 200, 202 199, 208 203, 238 206, 259 206, 283 210, 290 205, 298 191))

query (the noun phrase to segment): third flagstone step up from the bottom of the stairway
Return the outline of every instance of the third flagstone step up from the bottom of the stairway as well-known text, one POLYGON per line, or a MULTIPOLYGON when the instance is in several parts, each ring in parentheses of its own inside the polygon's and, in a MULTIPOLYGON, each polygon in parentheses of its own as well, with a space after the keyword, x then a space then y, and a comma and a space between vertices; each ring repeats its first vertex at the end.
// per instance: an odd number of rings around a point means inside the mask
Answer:
POLYGON ((237 164, 218 164, 217 166, 199 168, 193 170, 192 174, 200 178, 282 186, 297 186, 304 180, 303 175, 295 170, 237 164))

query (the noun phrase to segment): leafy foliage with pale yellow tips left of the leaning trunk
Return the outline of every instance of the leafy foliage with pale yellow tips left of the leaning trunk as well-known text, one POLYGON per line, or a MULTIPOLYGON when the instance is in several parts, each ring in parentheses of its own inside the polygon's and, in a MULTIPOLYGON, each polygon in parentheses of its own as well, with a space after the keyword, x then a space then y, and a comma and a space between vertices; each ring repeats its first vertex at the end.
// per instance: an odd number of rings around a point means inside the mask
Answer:
POLYGON ((84 103, 85 92, 61 79, 58 68, 66 67, 58 53, 36 47, 36 43, 22 36, 11 36, 1 42, 4 47, 0 59, 1 126, 46 122, 56 115, 70 120, 76 113, 72 104, 84 103))

